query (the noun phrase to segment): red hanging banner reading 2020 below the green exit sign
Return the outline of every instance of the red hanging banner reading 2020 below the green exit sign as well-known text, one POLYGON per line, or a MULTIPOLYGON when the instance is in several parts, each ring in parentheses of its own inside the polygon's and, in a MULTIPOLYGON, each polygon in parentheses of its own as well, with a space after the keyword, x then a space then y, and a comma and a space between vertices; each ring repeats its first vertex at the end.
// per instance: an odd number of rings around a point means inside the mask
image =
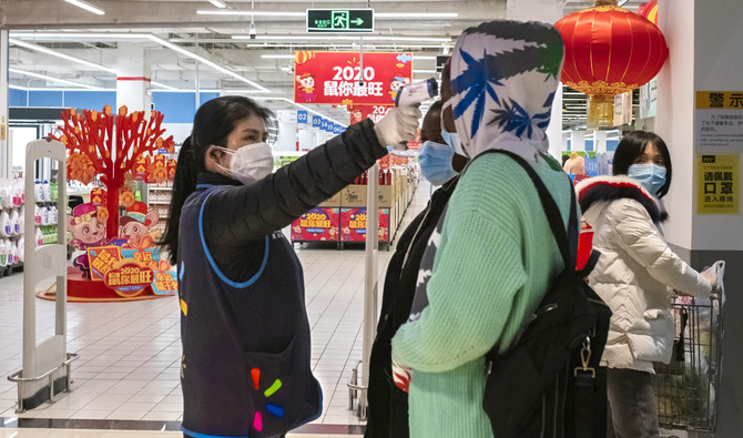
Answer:
POLYGON ((413 78, 410 53, 295 52, 294 101, 389 105, 413 78), (364 84, 359 84, 360 80, 364 84))

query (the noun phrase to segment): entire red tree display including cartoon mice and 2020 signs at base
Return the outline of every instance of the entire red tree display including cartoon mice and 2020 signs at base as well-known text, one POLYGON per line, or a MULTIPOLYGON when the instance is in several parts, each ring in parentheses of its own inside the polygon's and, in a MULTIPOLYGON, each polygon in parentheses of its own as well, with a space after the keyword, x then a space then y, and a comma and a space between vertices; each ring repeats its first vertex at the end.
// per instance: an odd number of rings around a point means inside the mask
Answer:
MULTIPOLYGON (((105 105, 101 112, 64 110, 62 121, 57 140, 68 151, 68 179, 105 186, 93 189, 90 203, 65 215, 70 245, 85 252, 68 271, 68 299, 119 302, 175 295, 174 269, 153 257, 150 228, 159 220, 157 212, 147 211, 131 191, 135 180, 173 180, 174 142, 172 135, 162 136, 163 114, 153 111, 145 118, 143 111, 129 113, 125 105, 114 114, 105 105), (119 214, 120 205, 124 215, 119 214)), ((55 298, 50 291, 39 297, 55 298)))

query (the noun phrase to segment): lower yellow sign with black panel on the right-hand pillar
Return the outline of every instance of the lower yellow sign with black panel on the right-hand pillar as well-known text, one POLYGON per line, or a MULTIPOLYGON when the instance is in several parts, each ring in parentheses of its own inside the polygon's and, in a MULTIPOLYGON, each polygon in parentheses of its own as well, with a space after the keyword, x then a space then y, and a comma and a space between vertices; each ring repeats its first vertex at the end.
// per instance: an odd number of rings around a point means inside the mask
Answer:
POLYGON ((696 155, 698 214, 740 213, 740 155, 696 155))

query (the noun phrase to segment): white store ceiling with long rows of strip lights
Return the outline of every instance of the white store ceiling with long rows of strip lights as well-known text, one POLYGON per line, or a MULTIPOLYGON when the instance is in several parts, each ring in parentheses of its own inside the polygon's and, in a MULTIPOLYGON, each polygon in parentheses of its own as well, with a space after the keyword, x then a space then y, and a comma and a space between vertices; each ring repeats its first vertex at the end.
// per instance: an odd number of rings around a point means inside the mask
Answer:
MULTIPOLYGON (((156 83, 180 90, 194 90, 196 79, 200 89, 253 90, 245 81, 216 71, 175 49, 196 53, 217 65, 236 73, 271 90, 269 93, 255 96, 293 95, 292 59, 266 59, 265 55, 292 55, 295 50, 358 50, 359 42, 327 40, 307 40, 304 17, 254 17, 257 39, 235 40, 250 33, 251 17, 207 16, 199 11, 215 11, 216 7, 207 0, 86 0, 105 11, 104 16, 93 14, 63 0, 0 0, 0 24, 10 29, 11 39, 23 43, 53 50, 70 57, 108 68, 116 69, 122 57, 130 52, 121 49, 130 41, 146 53, 150 63, 150 77, 156 83), (69 32, 90 33, 141 33, 141 38, 45 38, 30 33, 69 32), (157 38, 175 44, 164 47, 157 38), (293 37, 285 40, 277 37, 293 37), (356 45, 350 45, 355 43, 356 45)), ((516 1, 516 0, 511 0, 516 1)), ((562 1, 562 0, 556 0, 562 1)), ((446 54, 456 38, 468 27, 486 20, 506 17, 506 0, 325 0, 322 2, 283 0, 250 1, 225 0, 231 11, 256 12, 304 12, 306 9, 333 9, 372 7, 375 13, 457 13, 455 18, 375 18, 375 32, 367 34, 364 50, 410 51, 414 53, 414 70, 435 69, 432 57, 446 54), (388 40, 375 41, 385 37, 388 40), (421 39, 411 41, 410 39, 421 39), (436 39, 437 41, 428 41, 436 39), (446 42, 440 41, 446 39, 446 42)), ((621 1, 620 1, 621 2, 621 1)), ((642 1, 629 1, 624 7, 637 10, 642 1)), ((592 4, 591 1, 564 1, 566 13, 592 4)), ((135 50, 136 51, 136 50, 135 50)), ((12 44, 10 47, 10 67, 74 83, 115 89, 115 74, 78 62, 62 60, 39 50, 12 44)), ((431 73, 414 74, 415 79, 425 79, 431 73)), ((11 71, 11 85, 22 88, 64 88, 60 84, 11 71)), ((156 89, 156 86, 154 88, 156 89)), ((580 105, 581 95, 567 95, 571 105, 580 105), (572 101, 571 101, 572 100, 572 101)), ((291 108, 289 102, 272 101, 273 109, 291 108)), ((346 120, 345 109, 329 105, 313 105, 324 114, 346 120)), ((574 108, 568 110, 576 111, 574 108)), ((579 121, 580 123, 580 121, 579 121)))

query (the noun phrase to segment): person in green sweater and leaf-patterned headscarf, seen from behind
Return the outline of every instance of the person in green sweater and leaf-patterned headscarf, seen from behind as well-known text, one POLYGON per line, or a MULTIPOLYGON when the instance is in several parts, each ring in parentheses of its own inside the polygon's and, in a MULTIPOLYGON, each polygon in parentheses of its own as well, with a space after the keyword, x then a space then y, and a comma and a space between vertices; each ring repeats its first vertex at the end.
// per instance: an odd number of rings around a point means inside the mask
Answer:
POLYGON ((485 355, 496 344, 508 350, 563 268, 531 179, 512 157, 487 153, 509 151, 531 165, 568 223, 572 185, 547 154, 546 133, 562 59, 560 33, 538 22, 486 22, 457 40, 442 112, 471 161, 393 338, 394 361, 411 369, 413 437, 492 437, 485 355))

